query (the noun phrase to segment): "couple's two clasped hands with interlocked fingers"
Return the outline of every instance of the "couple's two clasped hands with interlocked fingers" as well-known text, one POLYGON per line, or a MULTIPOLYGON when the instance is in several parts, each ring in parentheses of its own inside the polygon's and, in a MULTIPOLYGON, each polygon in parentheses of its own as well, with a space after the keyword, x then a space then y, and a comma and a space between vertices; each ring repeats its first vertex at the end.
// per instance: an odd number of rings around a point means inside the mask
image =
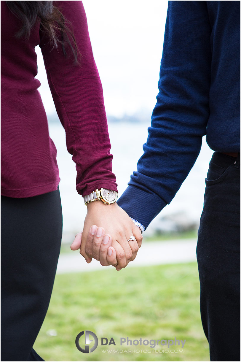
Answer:
POLYGON ((102 265, 114 265, 117 270, 125 268, 130 261, 135 259, 141 247, 140 229, 117 203, 104 205, 102 201, 94 201, 89 202, 87 207, 83 233, 81 236, 76 235, 71 249, 77 250, 80 247, 80 254, 87 262, 90 262, 93 257, 102 265), (128 242, 131 235, 134 235, 136 239, 128 242), (109 241, 107 241, 108 237, 110 237, 109 241), (106 241, 107 244, 105 244, 106 241), (112 254, 108 256, 110 250, 112 254))

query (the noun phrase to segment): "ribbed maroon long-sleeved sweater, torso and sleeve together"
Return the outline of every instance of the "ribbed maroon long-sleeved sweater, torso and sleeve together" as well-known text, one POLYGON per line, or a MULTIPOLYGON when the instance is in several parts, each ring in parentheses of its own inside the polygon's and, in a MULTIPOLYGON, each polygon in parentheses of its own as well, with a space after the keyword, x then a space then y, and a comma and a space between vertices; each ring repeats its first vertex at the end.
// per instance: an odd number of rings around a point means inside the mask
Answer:
POLYGON ((54 1, 54 5, 72 24, 81 66, 74 65, 69 47, 65 47, 68 59, 61 44, 51 51, 53 46, 40 30, 39 20, 29 42, 14 38, 21 21, 1 1, 1 194, 8 197, 54 191, 60 181, 56 148, 38 91, 40 82, 35 78, 37 45, 66 132, 67 150, 76 163, 78 193, 86 195, 100 187, 117 190, 102 85, 82 1, 54 1))

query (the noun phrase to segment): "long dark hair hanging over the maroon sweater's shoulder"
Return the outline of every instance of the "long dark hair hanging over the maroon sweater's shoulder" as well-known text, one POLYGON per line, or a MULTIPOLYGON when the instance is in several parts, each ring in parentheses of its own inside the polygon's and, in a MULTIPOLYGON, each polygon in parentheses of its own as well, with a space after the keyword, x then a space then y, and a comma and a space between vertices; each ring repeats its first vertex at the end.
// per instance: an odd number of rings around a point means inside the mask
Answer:
POLYGON ((77 58, 78 55, 81 58, 81 54, 73 35, 72 24, 53 5, 53 1, 6 1, 6 4, 9 10, 22 21, 20 30, 14 35, 17 39, 24 37, 29 40, 31 29, 38 18, 41 30, 49 37, 53 49, 58 47, 58 42, 61 43, 63 53, 67 57, 65 45, 68 44, 74 55, 74 64, 80 65, 77 58), (71 29, 65 23, 68 23, 71 29), (56 37, 55 30, 60 30, 61 40, 56 37))

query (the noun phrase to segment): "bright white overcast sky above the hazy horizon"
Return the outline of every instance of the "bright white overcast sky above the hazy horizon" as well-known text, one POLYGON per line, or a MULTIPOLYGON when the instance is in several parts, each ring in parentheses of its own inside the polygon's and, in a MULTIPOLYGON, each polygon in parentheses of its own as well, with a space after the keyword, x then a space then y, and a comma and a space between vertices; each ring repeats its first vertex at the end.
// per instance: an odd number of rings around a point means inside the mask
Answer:
MULTIPOLYGON (((122 117, 152 113, 158 93, 166 0, 83 1, 106 113, 122 117)), ((39 47, 39 92, 48 114, 55 111, 39 47)), ((147 119, 148 121, 148 119, 147 119)))

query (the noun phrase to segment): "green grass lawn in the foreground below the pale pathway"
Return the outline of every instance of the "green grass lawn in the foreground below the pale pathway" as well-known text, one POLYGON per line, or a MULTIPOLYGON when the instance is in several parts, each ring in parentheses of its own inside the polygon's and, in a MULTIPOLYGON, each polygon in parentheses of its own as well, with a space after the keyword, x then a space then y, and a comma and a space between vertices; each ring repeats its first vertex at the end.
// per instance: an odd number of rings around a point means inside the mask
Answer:
MULTIPOLYGON (((84 346, 84 336, 81 338, 84 346)), ((106 267, 56 275, 50 307, 34 349, 46 361, 209 361, 200 320, 197 264, 127 267, 119 272, 106 267), (46 333, 51 329, 57 336, 46 333), (97 349, 89 354, 75 346, 75 338, 83 330, 93 331, 99 338, 97 349), (113 337, 116 346, 101 346, 101 337, 113 337), (102 353, 106 349, 152 350, 120 346, 120 337, 177 337, 186 342, 183 349, 174 348, 183 353, 102 353)))

